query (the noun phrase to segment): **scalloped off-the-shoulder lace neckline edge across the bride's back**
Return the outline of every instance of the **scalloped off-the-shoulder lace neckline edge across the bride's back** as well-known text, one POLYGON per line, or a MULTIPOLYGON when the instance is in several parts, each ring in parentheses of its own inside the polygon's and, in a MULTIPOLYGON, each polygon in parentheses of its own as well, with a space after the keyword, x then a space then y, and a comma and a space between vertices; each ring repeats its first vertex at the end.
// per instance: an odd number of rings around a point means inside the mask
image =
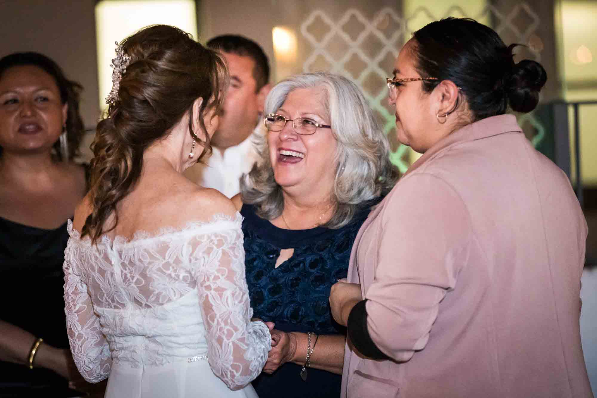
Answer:
MULTIPOLYGON (((234 216, 229 216, 224 213, 214 213, 208 221, 187 221, 183 226, 177 227, 162 226, 162 228, 155 232, 139 230, 134 233, 132 238, 127 238, 122 235, 116 235, 115 237, 110 238, 104 234, 100 237, 98 243, 101 242, 101 244, 107 244, 110 247, 115 245, 122 246, 137 244, 143 241, 155 240, 156 238, 170 237, 170 235, 184 234, 189 231, 199 232, 198 229, 204 229, 208 226, 217 226, 217 224, 220 224, 221 222, 232 222, 235 228, 240 229, 242 224, 241 213, 236 212, 234 216)), ((81 238, 81 232, 73 228, 72 220, 69 219, 67 221, 66 229, 71 238, 74 238, 81 243, 91 244, 89 235, 81 238)))

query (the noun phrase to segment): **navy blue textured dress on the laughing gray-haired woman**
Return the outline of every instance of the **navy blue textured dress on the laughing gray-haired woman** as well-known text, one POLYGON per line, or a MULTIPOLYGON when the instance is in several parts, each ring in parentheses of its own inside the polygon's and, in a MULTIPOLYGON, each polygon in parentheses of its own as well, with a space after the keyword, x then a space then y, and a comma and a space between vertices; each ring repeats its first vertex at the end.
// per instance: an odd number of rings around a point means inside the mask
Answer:
MULTIPOLYGON (((275 322, 275 328, 285 332, 346 335, 331 317, 328 298, 331 286, 346 278, 352 244, 372 204, 342 228, 303 230, 278 228, 244 204, 242 232, 253 316, 275 322), (275 268, 281 249, 294 253, 275 268)), ((310 368, 303 381, 300 369, 285 363, 272 375, 261 373, 253 387, 260 398, 340 396, 340 375, 310 368)))

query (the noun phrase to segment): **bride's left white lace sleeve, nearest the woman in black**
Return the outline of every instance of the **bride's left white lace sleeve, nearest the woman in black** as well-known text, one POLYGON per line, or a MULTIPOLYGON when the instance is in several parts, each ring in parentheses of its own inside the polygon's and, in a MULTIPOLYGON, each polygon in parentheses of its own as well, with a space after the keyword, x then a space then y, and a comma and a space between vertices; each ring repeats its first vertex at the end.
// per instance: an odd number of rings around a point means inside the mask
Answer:
POLYGON ((100 319, 93 312, 87 285, 73 270, 73 255, 73 247, 69 244, 64 252, 63 266, 66 329, 79 373, 88 382, 96 383, 110 374, 112 357, 101 333, 100 319))

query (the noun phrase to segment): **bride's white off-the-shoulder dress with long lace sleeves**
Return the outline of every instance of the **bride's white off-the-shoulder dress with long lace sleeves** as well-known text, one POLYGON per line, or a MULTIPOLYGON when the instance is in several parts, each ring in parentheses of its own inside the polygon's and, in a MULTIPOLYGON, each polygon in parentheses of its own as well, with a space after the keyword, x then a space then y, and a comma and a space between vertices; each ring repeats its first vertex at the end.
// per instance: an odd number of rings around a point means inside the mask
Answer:
POLYGON ((270 333, 251 322, 242 217, 96 245, 68 224, 64 301, 75 363, 106 397, 256 397, 270 333))

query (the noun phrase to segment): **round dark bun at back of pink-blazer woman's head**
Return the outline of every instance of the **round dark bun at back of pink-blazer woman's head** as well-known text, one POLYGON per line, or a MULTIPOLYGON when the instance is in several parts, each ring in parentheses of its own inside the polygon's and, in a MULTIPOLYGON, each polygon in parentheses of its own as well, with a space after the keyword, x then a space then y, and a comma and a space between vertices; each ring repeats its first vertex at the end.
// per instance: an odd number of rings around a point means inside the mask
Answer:
POLYGON ((528 59, 517 63, 506 86, 510 108, 516 112, 533 111, 546 81, 547 74, 540 63, 528 59))

